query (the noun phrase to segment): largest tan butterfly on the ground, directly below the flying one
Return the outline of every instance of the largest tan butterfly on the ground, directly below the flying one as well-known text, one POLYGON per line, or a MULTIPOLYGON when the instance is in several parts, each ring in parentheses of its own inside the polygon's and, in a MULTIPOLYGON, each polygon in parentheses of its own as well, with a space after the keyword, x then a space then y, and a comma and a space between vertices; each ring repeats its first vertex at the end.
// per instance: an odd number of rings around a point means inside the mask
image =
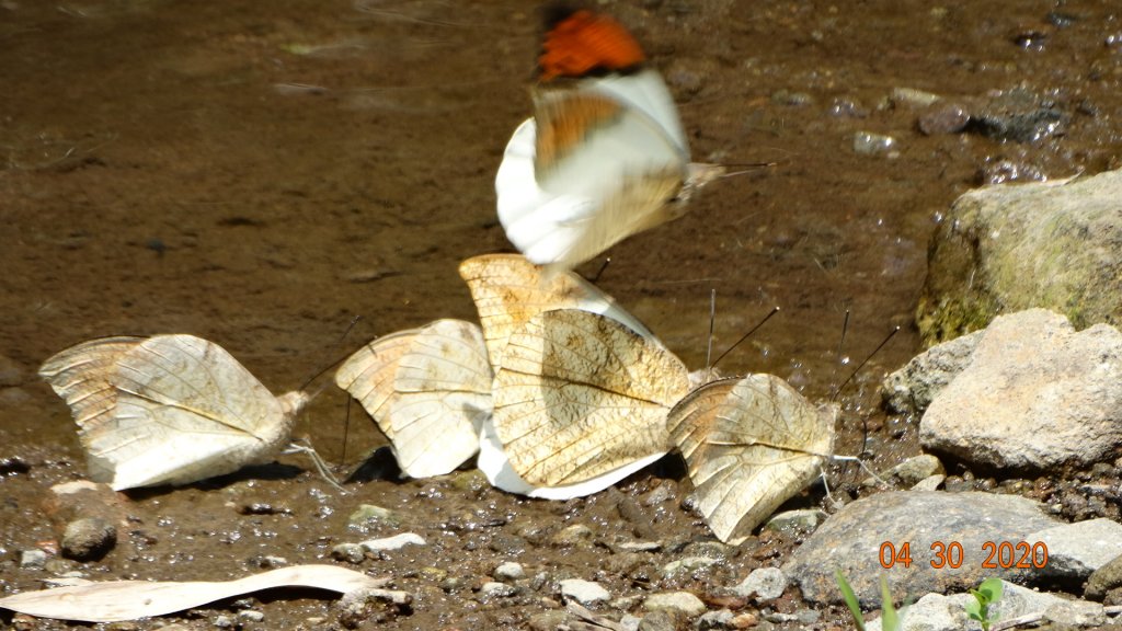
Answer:
POLYGON ((494 485, 577 497, 665 455, 665 415, 689 377, 633 316, 576 274, 517 255, 475 257, 460 273, 496 375, 478 459, 494 485))

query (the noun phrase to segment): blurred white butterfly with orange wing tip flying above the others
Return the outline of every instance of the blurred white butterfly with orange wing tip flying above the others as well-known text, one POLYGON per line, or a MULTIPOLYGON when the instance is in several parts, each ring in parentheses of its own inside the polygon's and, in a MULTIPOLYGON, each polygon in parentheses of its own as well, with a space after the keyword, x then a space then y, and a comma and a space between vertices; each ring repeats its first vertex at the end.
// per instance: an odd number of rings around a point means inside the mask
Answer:
POLYGON ((571 269, 686 212, 718 165, 690 163, 670 90, 634 37, 589 10, 553 16, 534 116, 495 179, 498 218, 527 259, 571 269))

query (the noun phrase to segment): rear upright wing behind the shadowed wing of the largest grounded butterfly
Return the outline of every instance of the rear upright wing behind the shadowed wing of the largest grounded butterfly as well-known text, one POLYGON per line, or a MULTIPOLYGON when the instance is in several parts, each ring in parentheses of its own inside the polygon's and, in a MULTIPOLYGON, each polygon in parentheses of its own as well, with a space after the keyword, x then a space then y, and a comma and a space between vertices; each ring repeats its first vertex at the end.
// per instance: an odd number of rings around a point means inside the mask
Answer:
POLYGON ((534 316, 554 309, 599 313, 654 340, 654 335, 616 301, 572 272, 544 274, 517 254, 488 254, 460 264, 479 311, 491 366, 503 363, 503 349, 516 329, 534 316))

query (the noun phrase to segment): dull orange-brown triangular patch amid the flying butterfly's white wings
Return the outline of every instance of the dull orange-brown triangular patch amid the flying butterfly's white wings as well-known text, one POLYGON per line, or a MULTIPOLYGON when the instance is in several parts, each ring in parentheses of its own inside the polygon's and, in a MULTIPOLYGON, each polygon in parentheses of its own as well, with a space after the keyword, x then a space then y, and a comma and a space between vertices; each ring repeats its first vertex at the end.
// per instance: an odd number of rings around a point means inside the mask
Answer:
POLYGON ((619 103, 594 94, 568 91, 543 93, 534 103, 534 171, 546 173, 592 131, 609 125, 620 112, 619 103))

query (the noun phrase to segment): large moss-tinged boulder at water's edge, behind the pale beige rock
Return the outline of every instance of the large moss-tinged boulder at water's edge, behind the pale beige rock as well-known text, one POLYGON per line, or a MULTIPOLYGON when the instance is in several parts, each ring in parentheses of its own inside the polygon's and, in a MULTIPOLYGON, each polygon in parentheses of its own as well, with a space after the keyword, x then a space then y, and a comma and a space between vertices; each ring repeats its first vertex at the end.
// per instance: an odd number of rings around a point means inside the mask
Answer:
POLYGON ((1122 171, 971 191, 936 229, 917 308, 926 344, 1042 307, 1122 322, 1122 171))

